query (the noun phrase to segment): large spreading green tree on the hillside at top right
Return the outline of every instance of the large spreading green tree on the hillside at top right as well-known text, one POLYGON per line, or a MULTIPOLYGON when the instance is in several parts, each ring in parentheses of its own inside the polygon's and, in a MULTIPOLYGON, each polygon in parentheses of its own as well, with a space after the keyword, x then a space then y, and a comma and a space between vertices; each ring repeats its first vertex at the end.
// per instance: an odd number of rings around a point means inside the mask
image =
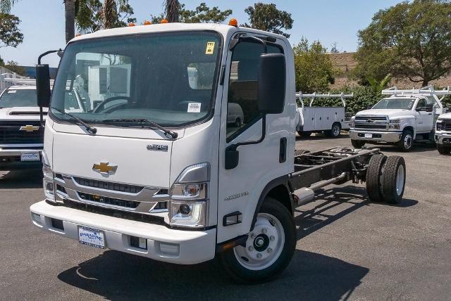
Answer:
POLYGON ((451 71, 451 3, 414 0, 378 11, 359 31, 354 74, 382 80, 392 73, 426 86, 451 71))

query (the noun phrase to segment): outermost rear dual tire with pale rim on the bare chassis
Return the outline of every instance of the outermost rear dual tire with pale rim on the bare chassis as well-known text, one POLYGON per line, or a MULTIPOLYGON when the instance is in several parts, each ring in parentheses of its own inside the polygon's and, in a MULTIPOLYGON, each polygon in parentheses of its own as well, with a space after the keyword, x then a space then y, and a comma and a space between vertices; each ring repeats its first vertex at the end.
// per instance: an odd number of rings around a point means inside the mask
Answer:
POLYGON ((383 167, 382 194, 385 202, 399 204, 406 184, 406 163, 399 155, 388 157, 383 167))

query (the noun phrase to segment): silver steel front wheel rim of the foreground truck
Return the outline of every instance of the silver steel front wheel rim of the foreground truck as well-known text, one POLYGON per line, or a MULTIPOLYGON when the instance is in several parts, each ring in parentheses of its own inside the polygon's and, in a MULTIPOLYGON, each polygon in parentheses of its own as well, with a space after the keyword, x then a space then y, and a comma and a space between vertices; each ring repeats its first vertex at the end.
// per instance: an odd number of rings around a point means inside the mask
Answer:
POLYGON ((247 237, 246 247, 237 246, 233 252, 242 267, 261 271, 278 260, 283 245, 285 233, 280 221, 271 214, 259 213, 254 230, 247 237))

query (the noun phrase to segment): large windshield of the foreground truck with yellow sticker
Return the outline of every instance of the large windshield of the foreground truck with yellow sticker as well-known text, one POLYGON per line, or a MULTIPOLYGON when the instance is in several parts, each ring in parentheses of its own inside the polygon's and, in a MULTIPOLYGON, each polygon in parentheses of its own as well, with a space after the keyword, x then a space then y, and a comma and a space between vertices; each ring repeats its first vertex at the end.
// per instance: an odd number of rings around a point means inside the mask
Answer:
MULTIPOLYGON (((64 51, 51 108, 90 124, 150 120, 182 127, 213 109, 221 38, 214 32, 164 32, 86 39, 64 51), (105 122, 107 120, 107 122, 105 122)), ((65 120, 51 110, 51 116, 65 120)))

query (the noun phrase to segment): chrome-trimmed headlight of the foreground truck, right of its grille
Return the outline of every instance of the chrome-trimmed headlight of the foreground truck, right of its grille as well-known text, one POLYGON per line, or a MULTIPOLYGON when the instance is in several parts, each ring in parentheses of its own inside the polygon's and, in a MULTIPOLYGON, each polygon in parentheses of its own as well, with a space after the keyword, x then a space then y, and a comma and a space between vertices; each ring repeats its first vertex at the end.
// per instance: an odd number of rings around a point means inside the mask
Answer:
POLYGON ((169 220, 172 226, 208 226, 210 165, 187 167, 170 191, 169 220))

